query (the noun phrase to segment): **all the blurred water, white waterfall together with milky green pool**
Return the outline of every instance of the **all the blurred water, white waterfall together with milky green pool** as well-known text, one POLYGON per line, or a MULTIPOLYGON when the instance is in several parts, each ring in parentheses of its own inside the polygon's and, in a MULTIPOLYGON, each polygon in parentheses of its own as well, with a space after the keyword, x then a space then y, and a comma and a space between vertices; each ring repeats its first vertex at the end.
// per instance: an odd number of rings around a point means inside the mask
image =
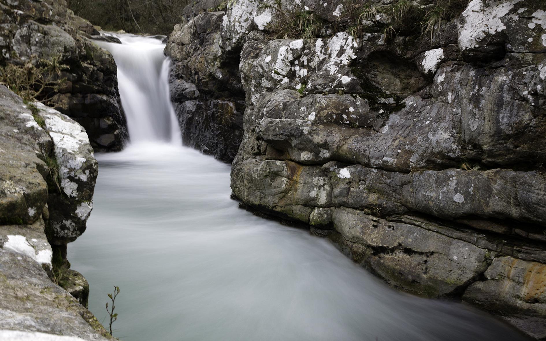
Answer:
POLYGON ((238 209, 229 165, 169 143, 175 134, 162 44, 118 35, 132 143, 98 155, 88 229, 69 259, 91 285, 90 308, 136 341, 518 341, 458 303, 392 290, 327 240, 238 209), (159 77, 159 78, 158 78, 159 77), (163 100, 163 102, 161 102, 163 100), (139 143, 136 143, 139 142, 139 143), (140 143, 141 142, 141 143, 140 143))

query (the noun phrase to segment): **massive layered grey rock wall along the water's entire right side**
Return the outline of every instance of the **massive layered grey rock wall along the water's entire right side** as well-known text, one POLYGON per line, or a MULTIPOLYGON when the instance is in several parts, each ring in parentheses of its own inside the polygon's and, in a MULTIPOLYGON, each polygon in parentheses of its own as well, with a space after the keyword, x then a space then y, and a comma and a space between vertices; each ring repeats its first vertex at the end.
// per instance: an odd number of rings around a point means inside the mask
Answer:
MULTIPOLYGON (((217 84, 240 80, 232 189, 244 204, 309 224, 395 288, 546 338, 544 4, 473 0, 432 36, 389 39, 380 13, 358 37, 299 40, 267 38, 281 21, 267 4, 236 0, 169 36, 186 141, 218 136, 209 122, 223 112, 195 120, 193 108, 207 89, 238 100, 217 84)), ((345 2, 298 4, 327 24, 345 2)), ((207 149, 223 154, 222 139, 207 149)))

